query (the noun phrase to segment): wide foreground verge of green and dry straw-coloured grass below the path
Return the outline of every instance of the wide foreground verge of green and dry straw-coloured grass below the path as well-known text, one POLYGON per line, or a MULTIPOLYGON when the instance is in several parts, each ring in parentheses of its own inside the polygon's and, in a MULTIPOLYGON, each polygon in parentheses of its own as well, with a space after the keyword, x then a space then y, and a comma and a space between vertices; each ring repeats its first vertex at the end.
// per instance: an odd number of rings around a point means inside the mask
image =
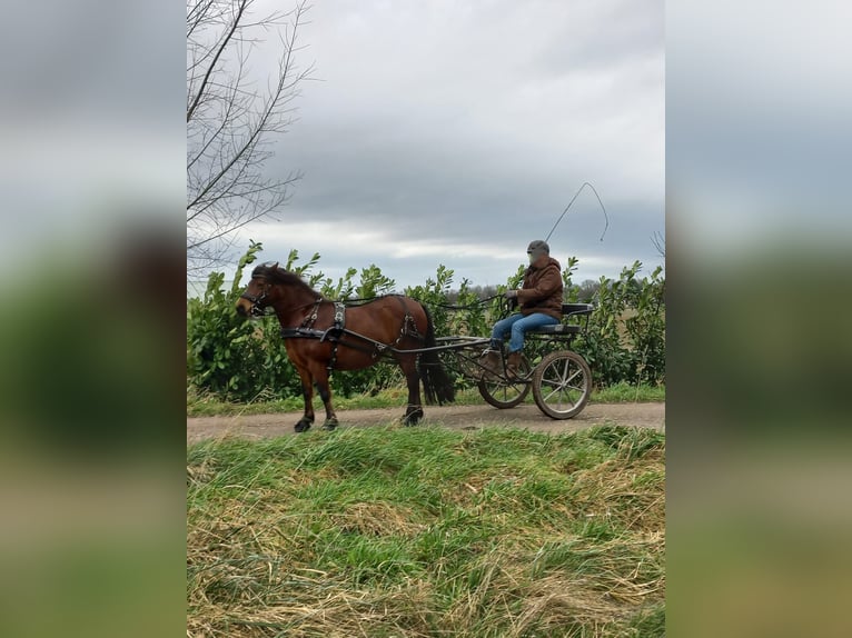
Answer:
POLYGON ((191 446, 187 634, 663 636, 664 453, 614 426, 191 446))

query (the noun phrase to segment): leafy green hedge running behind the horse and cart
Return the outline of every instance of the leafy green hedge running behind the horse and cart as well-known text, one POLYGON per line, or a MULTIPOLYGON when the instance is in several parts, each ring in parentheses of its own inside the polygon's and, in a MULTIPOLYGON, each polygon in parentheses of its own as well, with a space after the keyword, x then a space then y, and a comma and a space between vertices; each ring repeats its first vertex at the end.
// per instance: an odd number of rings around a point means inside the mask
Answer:
MULTIPOLYGON (((199 391, 236 401, 301 395, 299 378, 287 359, 277 319, 265 317, 248 321, 235 311, 242 291, 242 271, 261 250, 260 243, 251 242, 239 260, 229 289, 224 289, 225 275, 214 272, 208 278, 204 296, 187 301, 187 380, 199 391)), ((318 261, 319 255, 314 255, 299 263, 299 255, 293 250, 281 266, 300 275, 329 299, 371 298, 395 290, 396 282, 375 265, 360 271, 349 268, 344 277, 334 281, 317 269, 318 261)), ((588 301, 581 298, 584 288, 572 282, 576 267, 577 259, 569 258, 563 270, 565 300, 588 301)), ((519 266, 505 285, 496 287, 495 292, 519 287, 524 268, 519 266)), ((650 277, 640 278, 641 268, 636 261, 625 267, 618 279, 602 277, 596 282, 591 299, 596 308, 590 317, 588 330, 574 343, 574 349, 592 367, 598 386, 622 381, 665 382, 665 278, 662 268, 650 277)), ((429 308, 439 336, 489 335, 491 326, 499 316, 499 299, 470 307, 478 300, 478 292, 467 279, 455 289, 454 277, 455 272, 442 265, 434 278, 403 292, 429 308), (450 301, 468 308, 448 310, 444 306, 450 301)), ((400 382, 402 375, 396 366, 379 365, 334 375, 331 386, 336 393, 350 396, 376 392, 400 382)))

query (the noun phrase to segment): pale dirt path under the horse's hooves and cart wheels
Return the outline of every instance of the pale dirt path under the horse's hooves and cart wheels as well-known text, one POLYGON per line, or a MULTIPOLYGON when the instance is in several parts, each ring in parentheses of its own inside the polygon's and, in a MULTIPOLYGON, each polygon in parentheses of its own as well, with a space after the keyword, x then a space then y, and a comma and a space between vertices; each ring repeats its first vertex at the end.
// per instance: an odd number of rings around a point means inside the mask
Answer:
MULTIPOLYGON (((337 412, 341 428, 387 423, 400 416, 400 408, 337 412)), ((293 426, 300 417, 301 413, 297 412, 281 412, 187 418, 187 443, 225 436, 262 439, 293 435, 293 426)), ((534 405, 518 406, 511 410, 497 410, 491 406, 427 406, 426 418, 422 421, 423 425, 440 425, 454 429, 502 425, 542 432, 572 432, 605 422, 664 430, 665 403, 590 403, 579 415, 564 421, 546 417, 534 405)))

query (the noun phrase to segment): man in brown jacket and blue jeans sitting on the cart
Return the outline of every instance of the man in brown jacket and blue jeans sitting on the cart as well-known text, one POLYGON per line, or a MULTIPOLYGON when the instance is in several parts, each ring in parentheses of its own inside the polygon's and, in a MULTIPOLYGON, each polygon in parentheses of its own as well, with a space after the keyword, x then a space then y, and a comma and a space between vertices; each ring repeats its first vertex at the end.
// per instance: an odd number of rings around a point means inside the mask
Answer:
POLYGON ((494 325, 489 347, 479 360, 492 375, 501 375, 501 349, 509 336, 506 376, 518 377, 521 353, 524 349, 524 332, 558 323, 562 319, 562 267, 551 257, 547 242, 536 239, 526 249, 529 268, 524 272, 524 285, 519 290, 507 290, 506 299, 517 300, 519 311, 501 319, 494 325))

